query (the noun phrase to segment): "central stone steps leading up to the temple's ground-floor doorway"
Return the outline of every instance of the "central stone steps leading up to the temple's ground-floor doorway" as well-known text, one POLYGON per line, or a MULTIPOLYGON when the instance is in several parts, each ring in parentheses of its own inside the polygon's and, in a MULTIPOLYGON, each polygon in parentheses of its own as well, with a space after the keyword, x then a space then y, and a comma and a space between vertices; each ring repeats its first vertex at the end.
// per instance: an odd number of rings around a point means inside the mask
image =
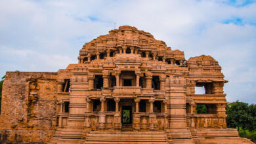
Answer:
POLYGON ((84 143, 167 144, 165 132, 89 132, 84 143))

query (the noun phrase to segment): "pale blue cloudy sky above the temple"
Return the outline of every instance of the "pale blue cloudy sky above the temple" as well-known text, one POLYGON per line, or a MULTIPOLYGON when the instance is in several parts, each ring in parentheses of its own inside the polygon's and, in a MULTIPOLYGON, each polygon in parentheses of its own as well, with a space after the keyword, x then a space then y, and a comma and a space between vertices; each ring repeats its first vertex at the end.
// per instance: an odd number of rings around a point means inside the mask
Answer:
POLYGON ((256 1, 0 1, 0 76, 58 71, 111 29, 148 31, 185 58, 211 55, 223 67, 228 101, 256 103, 256 1))

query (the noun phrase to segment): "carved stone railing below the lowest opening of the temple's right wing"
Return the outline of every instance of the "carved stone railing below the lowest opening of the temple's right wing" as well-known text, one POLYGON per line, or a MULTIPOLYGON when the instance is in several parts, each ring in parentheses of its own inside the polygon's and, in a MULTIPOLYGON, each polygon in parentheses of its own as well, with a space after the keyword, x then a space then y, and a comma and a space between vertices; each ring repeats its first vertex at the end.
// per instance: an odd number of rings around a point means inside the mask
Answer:
POLYGON ((192 128, 226 128, 226 115, 187 114, 186 124, 192 128))

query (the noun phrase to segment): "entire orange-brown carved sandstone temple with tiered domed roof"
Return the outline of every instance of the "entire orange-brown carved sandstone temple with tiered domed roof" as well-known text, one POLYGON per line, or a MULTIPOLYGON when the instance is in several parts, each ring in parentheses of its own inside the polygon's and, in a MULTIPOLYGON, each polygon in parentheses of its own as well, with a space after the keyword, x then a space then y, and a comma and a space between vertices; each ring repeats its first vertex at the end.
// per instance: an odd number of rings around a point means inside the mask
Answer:
POLYGON ((252 143, 226 128, 225 82, 211 56, 185 60, 121 26, 85 43, 66 69, 7 72, 0 143, 252 143))

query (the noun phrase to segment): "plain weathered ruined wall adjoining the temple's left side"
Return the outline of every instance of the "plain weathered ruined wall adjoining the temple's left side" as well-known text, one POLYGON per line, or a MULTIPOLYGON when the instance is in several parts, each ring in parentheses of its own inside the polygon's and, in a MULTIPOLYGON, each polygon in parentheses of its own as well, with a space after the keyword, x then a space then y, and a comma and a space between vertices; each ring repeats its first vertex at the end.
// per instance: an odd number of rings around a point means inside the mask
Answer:
POLYGON ((57 73, 7 72, 3 82, 0 141, 45 143, 56 129, 57 73))

